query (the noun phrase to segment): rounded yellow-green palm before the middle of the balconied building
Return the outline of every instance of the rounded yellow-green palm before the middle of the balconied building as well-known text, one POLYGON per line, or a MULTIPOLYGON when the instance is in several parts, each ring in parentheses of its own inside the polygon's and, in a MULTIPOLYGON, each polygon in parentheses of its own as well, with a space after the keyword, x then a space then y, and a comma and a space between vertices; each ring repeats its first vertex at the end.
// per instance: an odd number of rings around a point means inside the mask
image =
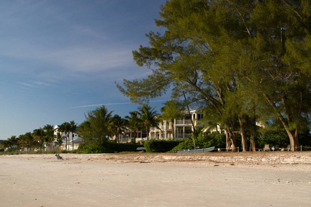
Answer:
POLYGON ((178 101, 175 100, 165 102, 164 106, 162 106, 161 108, 162 115, 160 116, 160 118, 162 120, 171 121, 173 139, 175 139, 174 120, 183 117, 182 113, 183 109, 184 109, 183 106, 180 103, 178 103, 178 101))

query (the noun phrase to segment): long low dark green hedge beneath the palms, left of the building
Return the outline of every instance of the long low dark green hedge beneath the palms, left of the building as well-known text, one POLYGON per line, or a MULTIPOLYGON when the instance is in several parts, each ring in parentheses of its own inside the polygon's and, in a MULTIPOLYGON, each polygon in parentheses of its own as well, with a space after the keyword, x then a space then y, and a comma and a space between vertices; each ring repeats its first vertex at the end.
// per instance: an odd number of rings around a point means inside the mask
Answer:
POLYGON ((135 152, 140 144, 134 143, 116 143, 115 141, 104 141, 102 144, 88 142, 81 144, 77 150, 81 154, 92 153, 113 153, 113 152, 135 152))

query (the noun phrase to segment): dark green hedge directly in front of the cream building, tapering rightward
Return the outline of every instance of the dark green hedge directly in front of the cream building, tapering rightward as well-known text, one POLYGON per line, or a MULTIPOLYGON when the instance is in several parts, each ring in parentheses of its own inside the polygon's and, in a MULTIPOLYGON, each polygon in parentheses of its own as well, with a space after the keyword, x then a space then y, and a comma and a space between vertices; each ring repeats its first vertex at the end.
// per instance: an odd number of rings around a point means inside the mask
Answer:
POLYGON ((162 139, 151 139, 144 143, 146 152, 169 152, 178 144, 184 142, 183 140, 162 140, 162 139))

